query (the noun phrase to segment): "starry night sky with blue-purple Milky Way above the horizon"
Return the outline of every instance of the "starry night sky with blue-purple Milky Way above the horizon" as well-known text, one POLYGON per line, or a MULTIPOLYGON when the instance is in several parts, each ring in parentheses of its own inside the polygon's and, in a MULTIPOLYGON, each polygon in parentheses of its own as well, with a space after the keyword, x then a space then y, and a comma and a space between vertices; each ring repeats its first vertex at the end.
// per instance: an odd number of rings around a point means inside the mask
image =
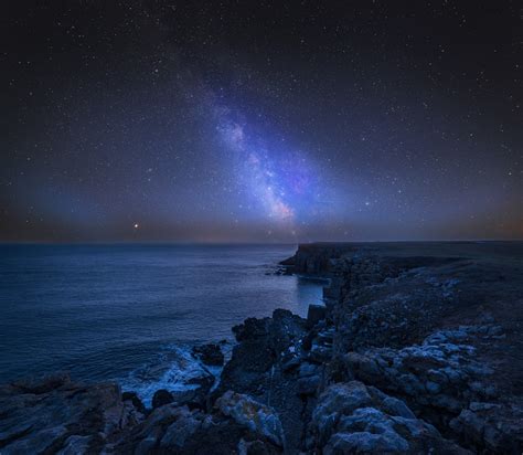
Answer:
POLYGON ((523 237, 521 1, 2 11, 0 241, 523 237))

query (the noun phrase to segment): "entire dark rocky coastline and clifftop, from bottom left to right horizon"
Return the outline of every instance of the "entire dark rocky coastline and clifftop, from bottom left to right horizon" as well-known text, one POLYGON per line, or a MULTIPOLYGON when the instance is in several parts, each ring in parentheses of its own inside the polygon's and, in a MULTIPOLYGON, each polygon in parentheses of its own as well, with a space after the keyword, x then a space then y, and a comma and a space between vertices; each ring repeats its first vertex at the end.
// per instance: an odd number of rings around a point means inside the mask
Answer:
MULTIPOLYGON (((523 244, 312 244, 325 307, 234 327, 220 382, 0 388, 1 454, 521 454, 523 244)), ((220 346, 194 350, 223 363, 220 346)))

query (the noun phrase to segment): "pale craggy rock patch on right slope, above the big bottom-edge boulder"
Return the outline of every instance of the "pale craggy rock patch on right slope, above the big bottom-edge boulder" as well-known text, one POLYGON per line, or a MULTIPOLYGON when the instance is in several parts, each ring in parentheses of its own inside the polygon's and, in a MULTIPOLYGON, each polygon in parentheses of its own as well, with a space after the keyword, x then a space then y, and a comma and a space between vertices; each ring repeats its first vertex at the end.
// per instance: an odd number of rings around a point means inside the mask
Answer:
POLYGON ((466 339, 465 329, 440 330, 421 345, 349 352, 344 361, 356 379, 404 394, 417 405, 455 413, 490 392, 483 381, 492 371, 474 360, 474 348, 462 343, 466 339))

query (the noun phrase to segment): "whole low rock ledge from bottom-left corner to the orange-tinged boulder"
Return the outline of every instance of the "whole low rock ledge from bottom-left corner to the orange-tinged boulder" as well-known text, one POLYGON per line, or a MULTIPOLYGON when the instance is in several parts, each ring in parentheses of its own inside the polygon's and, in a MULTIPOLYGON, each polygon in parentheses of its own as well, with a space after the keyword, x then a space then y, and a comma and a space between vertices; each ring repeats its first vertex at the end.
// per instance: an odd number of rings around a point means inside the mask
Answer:
POLYGON ((3 387, 2 454, 265 453, 284 451, 276 412, 226 392, 205 413, 175 402, 143 414, 116 384, 75 384, 63 377, 3 387))

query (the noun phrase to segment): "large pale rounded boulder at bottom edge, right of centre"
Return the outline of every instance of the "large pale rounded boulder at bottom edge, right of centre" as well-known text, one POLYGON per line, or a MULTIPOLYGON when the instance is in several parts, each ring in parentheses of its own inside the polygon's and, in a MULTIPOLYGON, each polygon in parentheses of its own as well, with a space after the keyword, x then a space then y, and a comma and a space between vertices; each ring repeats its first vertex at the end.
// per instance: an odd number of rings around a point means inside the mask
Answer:
POLYGON ((428 447, 466 453, 405 403, 359 381, 330 385, 318 400, 309 431, 309 449, 324 454, 417 454, 428 447))

